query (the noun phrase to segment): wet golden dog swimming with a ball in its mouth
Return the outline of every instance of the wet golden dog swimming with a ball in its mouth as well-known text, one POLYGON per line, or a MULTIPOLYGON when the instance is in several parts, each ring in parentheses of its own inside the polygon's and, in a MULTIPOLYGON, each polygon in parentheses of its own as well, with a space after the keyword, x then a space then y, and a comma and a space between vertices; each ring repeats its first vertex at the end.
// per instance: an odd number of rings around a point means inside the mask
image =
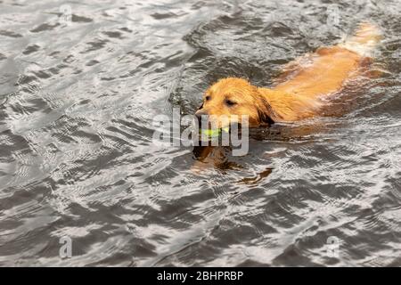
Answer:
POLYGON ((379 28, 364 22, 344 43, 319 48, 287 64, 286 80, 273 88, 251 85, 242 78, 220 79, 205 92, 195 116, 208 118, 209 126, 217 128, 240 123, 243 116, 248 116, 250 127, 319 116, 322 99, 358 77, 380 40, 379 28))

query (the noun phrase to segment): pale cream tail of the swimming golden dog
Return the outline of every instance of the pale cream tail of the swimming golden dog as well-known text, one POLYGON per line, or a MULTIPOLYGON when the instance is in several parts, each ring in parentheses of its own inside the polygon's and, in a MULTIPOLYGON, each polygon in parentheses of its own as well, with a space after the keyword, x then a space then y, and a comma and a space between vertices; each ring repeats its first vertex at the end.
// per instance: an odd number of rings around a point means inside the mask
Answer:
POLYGON ((372 57, 375 47, 381 41, 381 30, 374 24, 359 24, 354 36, 349 37, 341 46, 363 56, 372 57))

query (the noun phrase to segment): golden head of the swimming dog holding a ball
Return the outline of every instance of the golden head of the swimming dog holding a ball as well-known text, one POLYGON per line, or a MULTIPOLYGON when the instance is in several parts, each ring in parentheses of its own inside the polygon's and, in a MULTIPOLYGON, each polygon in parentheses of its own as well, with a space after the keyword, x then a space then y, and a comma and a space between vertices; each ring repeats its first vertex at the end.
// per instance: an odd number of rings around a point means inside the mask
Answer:
POLYGON ((203 96, 198 118, 209 119, 209 125, 217 128, 241 123, 248 116, 249 126, 270 125, 273 120, 269 103, 258 87, 241 78, 225 78, 209 87, 203 96))

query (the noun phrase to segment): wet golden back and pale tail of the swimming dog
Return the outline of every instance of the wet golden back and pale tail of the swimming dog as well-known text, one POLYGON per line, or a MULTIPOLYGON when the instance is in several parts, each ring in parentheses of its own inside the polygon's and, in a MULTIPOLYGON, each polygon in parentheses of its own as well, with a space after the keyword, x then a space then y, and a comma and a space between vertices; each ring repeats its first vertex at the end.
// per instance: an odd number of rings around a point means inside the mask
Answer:
POLYGON ((313 116, 319 107, 318 98, 339 91, 345 81, 356 77, 359 67, 372 55, 380 38, 378 28, 363 23, 355 36, 345 43, 320 48, 303 60, 292 62, 291 77, 273 89, 265 90, 269 102, 281 117, 278 120, 313 116))

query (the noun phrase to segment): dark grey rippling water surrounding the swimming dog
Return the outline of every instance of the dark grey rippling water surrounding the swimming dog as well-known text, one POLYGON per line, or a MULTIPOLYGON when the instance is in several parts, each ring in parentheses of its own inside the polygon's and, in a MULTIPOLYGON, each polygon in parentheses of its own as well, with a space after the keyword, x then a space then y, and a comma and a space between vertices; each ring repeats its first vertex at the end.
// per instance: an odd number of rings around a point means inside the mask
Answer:
POLYGON ((0 1, 0 265, 401 265, 401 5, 335 3, 0 1), (382 76, 340 111, 201 174, 152 142, 217 78, 271 85, 366 19, 382 76))

